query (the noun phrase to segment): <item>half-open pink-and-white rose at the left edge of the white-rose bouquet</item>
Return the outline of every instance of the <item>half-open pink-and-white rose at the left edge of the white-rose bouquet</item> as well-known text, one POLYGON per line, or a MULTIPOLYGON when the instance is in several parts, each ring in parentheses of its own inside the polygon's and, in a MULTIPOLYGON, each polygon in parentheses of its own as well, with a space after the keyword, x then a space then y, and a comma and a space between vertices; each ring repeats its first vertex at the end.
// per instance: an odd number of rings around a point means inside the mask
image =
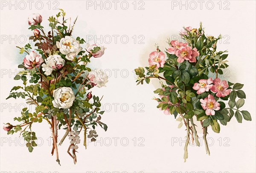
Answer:
POLYGON ((31 51, 29 55, 26 55, 26 57, 23 59, 24 66, 27 69, 33 69, 34 67, 38 68, 43 62, 44 59, 35 51, 31 51))

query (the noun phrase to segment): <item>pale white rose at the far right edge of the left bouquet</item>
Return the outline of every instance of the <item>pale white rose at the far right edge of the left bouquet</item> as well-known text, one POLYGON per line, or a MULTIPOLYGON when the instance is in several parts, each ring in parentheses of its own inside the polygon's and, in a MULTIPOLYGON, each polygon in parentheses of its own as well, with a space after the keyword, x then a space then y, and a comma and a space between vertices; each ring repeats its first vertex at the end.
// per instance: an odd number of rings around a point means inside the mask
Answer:
POLYGON ((106 86, 105 84, 108 82, 108 76, 99 69, 92 70, 89 73, 88 78, 94 86, 97 86, 99 88, 102 86, 106 86))

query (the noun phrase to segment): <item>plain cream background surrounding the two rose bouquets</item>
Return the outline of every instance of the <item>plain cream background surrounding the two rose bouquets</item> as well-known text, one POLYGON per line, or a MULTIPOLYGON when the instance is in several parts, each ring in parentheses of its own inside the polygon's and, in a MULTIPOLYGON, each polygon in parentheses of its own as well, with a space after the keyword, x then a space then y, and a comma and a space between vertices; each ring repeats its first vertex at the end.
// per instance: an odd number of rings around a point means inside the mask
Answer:
MULTIPOLYGON (((102 121, 108 125, 108 131, 104 132, 100 127, 97 132, 99 138, 112 138, 111 146, 97 146, 89 144, 84 150, 82 144, 77 153, 78 162, 73 164, 72 159, 67 154, 68 140, 59 147, 61 166, 55 162, 55 156, 51 157, 51 146, 49 146, 50 130, 45 122, 34 124, 33 130, 38 137, 43 138, 44 144, 35 147, 33 153, 29 153, 25 146, 17 144, 18 134, 7 136, 4 130, 0 130, 0 169, 1 171, 12 172, 54 172, 78 173, 78 172, 139 172, 163 173, 163 172, 225 172, 241 173, 256 172, 255 167, 255 1, 229 1, 230 10, 218 9, 218 2, 214 1, 215 8, 184 9, 178 7, 171 9, 171 1, 144 1, 145 10, 134 10, 132 2, 129 1, 128 10, 94 10, 85 9, 84 1, 59 1, 58 8, 64 9, 67 17, 74 19, 79 16, 73 35, 75 37, 86 37, 87 34, 96 35, 128 35, 129 43, 102 43, 108 49, 102 58, 93 59, 92 67, 102 69, 127 69, 128 78, 122 78, 120 73, 117 77, 113 75, 109 78, 106 88, 95 89, 97 95, 104 95, 102 103, 112 104, 112 110, 105 112, 102 121), (213 133, 209 129, 208 137, 214 140, 214 144, 209 147, 211 156, 205 153, 204 144, 201 147, 189 146, 189 159, 183 163, 183 146, 178 143, 172 146, 172 137, 183 138, 186 135, 184 127, 177 129, 178 122, 169 115, 160 112, 153 101, 153 90, 159 87, 158 81, 153 84, 136 86, 134 68, 148 65, 148 55, 158 43, 160 48, 167 47, 166 39, 172 35, 177 35, 182 26, 198 27, 199 22, 203 22, 205 32, 209 35, 218 36, 229 35, 229 44, 221 43, 218 49, 229 51, 228 69, 230 70, 231 82, 244 84, 243 90, 247 95, 243 109, 248 110, 253 121, 244 121, 238 124, 235 117, 227 126, 221 125, 221 133, 213 133), (133 35, 144 35, 144 44, 134 44, 133 35), (113 103, 127 103, 129 110, 122 112, 118 107, 114 111, 113 103), (132 105, 144 103, 145 112, 134 112, 132 105), (128 138, 128 146, 122 146, 120 139, 115 146, 113 137, 128 138), (137 146, 134 146, 132 139, 137 138, 137 146), (138 138, 144 138, 145 146, 138 146, 138 138), (228 137, 230 146, 224 146, 228 137), (10 140, 16 142, 11 142, 10 140), (220 146, 218 139, 221 138, 220 146), (3 140, 8 139, 7 143, 3 140), (11 146, 9 146, 11 145, 11 146), (17 145, 17 146, 15 146, 17 145)), ((0 17, 1 35, 30 35, 27 29, 27 17, 31 13, 40 13, 43 16, 43 26, 48 25, 47 18, 55 15, 57 10, 48 10, 47 1, 44 1, 42 10, 32 9, 20 10, 3 8, 0 17)), ((223 2, 222 2, 223 3, 223 2)), ((223 7, 222 7, 223 8, 223 7)), ((1 40, 2 42, 2 40, 1 40)), ((21 84, 14 81, 8 73, 3 74, 3 69, 17 69, 17 65, 22 61, 15 46, 23 46, 20 43, 10 44, 9 40, 3 41, 0 49, 1 67, 1 128, 4 122, 12 123, 13 117, 19 116, 20 112, 14 109, 3 109, 3 104, 14 106, 15 103, 25 103, 22 99, 9 99, 8 93, 12 86, 21 84), (3 111, 2 111, 3 110, 3 111)), ((125 74, 125 73, 124 73, 125 74)), ((9 108, 9 107, 8 107, 9 108)), ((137 110, 138 110, 137 106, 137 110)), ((62 133, 61 133, 62 134, 62 133)), ((201 136, 201 134, 200 134, 201 136)), ((60 135, 60 137, 62 137, 60 135)), ((184 138, 183 138, 184 140, 184 138)), ((22 144, 22 142, 20 142, 22 144)))

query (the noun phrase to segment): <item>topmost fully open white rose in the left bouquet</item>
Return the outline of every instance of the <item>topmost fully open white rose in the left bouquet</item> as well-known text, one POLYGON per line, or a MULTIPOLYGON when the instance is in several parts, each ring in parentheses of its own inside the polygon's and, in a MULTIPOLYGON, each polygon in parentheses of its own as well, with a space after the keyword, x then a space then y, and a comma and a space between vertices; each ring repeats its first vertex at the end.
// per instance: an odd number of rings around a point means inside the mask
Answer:
POLYGON ((73 61, 76 55, 78 55, 78 53, 82 50, 79 41, 70 36, 61 38, 59 42, 56 42, 56 46, 60 49, 60 52, 63 55, 66 55, 66 58, 70 61, 73 61))

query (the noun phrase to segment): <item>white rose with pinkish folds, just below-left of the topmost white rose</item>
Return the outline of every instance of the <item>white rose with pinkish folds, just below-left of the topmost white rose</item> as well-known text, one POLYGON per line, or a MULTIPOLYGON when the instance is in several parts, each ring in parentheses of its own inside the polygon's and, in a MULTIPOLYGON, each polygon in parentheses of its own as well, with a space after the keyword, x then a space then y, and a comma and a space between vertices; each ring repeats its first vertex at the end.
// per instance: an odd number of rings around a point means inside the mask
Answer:
POLYGON ((42 64, 42 70, 47 76, 52 74, 55 69, 61 69, 65 64, 65 60, 60 55, 50 55, 42 64))

